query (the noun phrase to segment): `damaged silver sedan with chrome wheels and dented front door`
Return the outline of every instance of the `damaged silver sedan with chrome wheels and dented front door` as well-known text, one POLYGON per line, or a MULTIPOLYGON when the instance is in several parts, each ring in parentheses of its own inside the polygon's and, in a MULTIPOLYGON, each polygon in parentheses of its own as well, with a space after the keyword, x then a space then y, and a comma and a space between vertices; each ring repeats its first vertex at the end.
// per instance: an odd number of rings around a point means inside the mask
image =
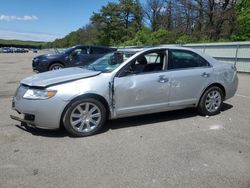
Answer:
POLYGON ((215 115, 237 90, 235 66, 199 51, 155 47, 133 53, 117 51, 88 67, 22 80, 12 102, 20 116, 11 118, 46 129, 62 125, 73 136, 88 136, 107 119, 189 107, 215 115))

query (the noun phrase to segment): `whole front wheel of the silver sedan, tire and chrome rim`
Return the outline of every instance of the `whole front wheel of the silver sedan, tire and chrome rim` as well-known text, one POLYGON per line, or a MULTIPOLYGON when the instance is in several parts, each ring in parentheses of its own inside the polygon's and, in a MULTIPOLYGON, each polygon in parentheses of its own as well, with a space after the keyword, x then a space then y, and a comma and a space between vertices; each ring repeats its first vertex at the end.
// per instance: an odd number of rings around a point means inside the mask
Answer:
POLYGON ((104 105, 94 99, 85 98, 72 102, 64 115, 64 127, 76 137, 96 134, 106 121, 104 105))

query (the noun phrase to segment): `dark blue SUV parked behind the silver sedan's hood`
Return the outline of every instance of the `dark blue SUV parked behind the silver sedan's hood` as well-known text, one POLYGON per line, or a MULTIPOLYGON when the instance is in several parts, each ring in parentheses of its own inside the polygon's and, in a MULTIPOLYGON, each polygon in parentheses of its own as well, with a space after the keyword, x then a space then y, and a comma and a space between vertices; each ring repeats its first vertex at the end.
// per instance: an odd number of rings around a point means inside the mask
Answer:
POLYGON ((113 51, 116 49, 78 45, 57 54, 37 56, 33 59, 32 67, 35 72, 45 72, 65 67, 86 66, 113 51))

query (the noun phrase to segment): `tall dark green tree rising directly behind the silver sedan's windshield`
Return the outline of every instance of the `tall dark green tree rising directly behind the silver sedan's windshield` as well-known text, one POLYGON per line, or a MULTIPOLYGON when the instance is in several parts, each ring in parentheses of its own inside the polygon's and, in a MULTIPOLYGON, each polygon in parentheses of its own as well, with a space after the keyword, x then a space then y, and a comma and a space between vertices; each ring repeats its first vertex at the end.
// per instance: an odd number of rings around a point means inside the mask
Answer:
POLYGON ((94 13, 91 23, 98 30, 97 41, 102 45, 116 45, 131 39, 142 26, 142 8, 138 0, 108 3, 94 13))

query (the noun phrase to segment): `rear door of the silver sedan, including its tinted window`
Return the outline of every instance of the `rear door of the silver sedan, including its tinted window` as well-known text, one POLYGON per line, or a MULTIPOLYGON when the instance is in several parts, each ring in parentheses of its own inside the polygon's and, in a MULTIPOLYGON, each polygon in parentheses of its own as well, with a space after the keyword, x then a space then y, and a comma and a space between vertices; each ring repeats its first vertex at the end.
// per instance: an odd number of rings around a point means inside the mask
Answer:
POLYGON ((168 51, 171 74, 170 106, 195 105, 203 90, 211 83, 210 64, 188 50, 168 51))

